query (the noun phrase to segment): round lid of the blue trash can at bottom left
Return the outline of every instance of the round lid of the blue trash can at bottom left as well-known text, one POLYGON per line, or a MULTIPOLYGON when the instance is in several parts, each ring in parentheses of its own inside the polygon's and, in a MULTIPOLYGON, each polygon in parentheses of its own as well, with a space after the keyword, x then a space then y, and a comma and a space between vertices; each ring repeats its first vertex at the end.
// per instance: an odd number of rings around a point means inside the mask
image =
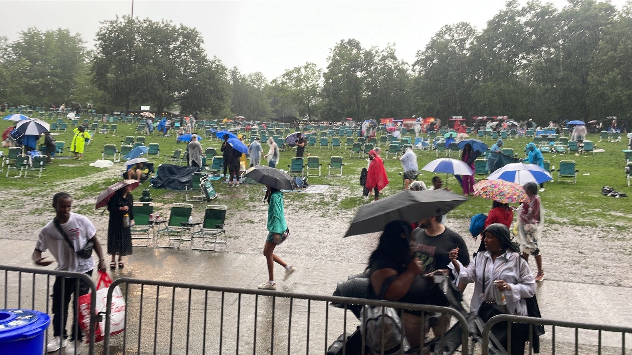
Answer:
POLYGON ((39 335, 48 328, 51 317, 34 310, 0 310, 0 344, 39 335))

